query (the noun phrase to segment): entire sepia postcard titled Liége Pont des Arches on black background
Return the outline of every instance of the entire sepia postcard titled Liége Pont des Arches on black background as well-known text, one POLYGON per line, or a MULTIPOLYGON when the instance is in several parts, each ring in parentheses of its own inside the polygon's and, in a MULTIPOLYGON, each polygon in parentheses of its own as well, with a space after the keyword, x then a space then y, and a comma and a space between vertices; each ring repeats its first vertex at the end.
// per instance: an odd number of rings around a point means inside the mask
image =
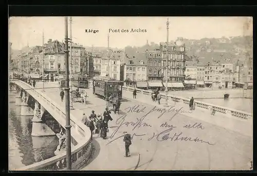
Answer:
POLYGON ((9 170, 251 170, 252 17, 10 17, 9 170))

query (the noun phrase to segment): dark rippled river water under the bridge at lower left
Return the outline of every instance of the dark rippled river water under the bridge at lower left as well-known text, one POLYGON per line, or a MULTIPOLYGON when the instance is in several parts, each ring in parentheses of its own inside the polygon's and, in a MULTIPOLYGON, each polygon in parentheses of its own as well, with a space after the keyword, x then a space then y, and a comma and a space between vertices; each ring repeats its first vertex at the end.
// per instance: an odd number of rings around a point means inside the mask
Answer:
POLYGON ((9 170, 16 170, 54 156, 58 138, 32 137, 33 116, 21 116, 21 106, 15 105, 15 95, 9 95, 8 158, 9 170))

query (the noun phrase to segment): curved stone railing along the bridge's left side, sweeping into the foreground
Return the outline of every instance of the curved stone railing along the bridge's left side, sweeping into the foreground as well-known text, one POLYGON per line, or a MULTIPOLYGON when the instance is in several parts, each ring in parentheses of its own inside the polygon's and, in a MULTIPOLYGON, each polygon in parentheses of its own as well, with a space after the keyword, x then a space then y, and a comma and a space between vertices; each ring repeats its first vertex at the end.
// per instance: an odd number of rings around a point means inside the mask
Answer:
MULTIPOLYGON (((66 125, 65 108, 31 85, 23 81, 12 81, 34 97, 45 109, 63 126, 66 125)), ((70 115, 71 137, 78 143, 71 147, 72 169, 78 169, 87 161, 91 154, 92 144, 90 142, 91 131, 76 117, 70 115)), ((17 170, 65 170, 66 152, 49 159, 19 168, 17 170)))

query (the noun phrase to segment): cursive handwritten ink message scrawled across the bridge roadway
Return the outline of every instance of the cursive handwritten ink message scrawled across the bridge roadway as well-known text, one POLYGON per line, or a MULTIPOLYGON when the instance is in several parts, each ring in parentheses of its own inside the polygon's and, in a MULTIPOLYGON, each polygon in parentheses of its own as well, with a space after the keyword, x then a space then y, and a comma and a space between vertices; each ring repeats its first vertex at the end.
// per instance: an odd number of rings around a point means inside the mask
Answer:
MULTIPOLYGON (((123 135, 122 135, 122 136, 114 138, 115 135, 117 134, 117 132, 119 131, 119 129, 122 126, 126 126, 126 127, 131 126, 132 131, 135 130, 135 129, 139 129, 141 127, 151 128, 152 125, 149 124, 149 123, 144 122, 144 120, 147 116, 149 116, 153 112, 159 113, 159 115, 156 117, 157 119, 162 117, 166 113, 175 112, 175 114, 173 114, 173 116, 170 117, 169 121, 171 121, 179 113, 191 113, 191 112, 187 112, 187 111, 182 111, 182 107, 177 109, 177 108, 174 108, 174 106, 171 106, 169 109, 158 108, 157 106, 154 106, 152 109, 150 109, 150 111, 146 111, 146 106, 142 106, 142 105, 134 105, 132 107, 126 107, 125 111, 126 111, 126 114, 120 116, 116 120, 116 124, 118 126, 115 128, 115 130, 113 131, 113 133, 110 137, 110 139, 112 139, 112 140, 109 143, 107 143, 106 145, 108 145, 108 144, 114 142, 115 140, 120 139, 120 138, 123 137, 123 135), (127 118, 128 114, 131 114, 131 113, 135 113, 136 118, 135 118, 135 120, 128 121, 126 118, 127 118), (141 113, 143 115, 140 116, 139 113, 141 113)), ((154 121, 154 122, 156 122, 156 121, 154 121)), ((156 140, 156 141, 159 141, 159 142, 161 142, 161 141, 183 141, 183 142, 197 142, 197 143, 206 143, 208 145, 215 145, 214 143, 211 143, 209 141, 205 141, 205 140, 200 139, 198 137, 185 136, 183 134, 183 131, 181 131, 181 130, 179 132, 177 132, 177 131, 173 132, 173 129, 177 129, 177 126, 174 125, 174 124, 169 124, 167 122, 164 122, 160 125, 160 127, 165 128, 165 129, 158 134, 155 134, 153 132, 153 135, 149 136, 149 135, 146 135, 146 134, 133 133, 132 139, 134 137, 140 137, 140 139, 146 138, 148 141, 152 141, 152 140, 156 140)), ((190 130, 200 129, 200 130, 204 130, 205 127, 201 123, 194 123, 194 124, 188 123, 186 125, 184 124, 182 126, 182 129, 190 129, 190 130)), ((179 130, 179 129, 177 129, 177 130, 179 130)))

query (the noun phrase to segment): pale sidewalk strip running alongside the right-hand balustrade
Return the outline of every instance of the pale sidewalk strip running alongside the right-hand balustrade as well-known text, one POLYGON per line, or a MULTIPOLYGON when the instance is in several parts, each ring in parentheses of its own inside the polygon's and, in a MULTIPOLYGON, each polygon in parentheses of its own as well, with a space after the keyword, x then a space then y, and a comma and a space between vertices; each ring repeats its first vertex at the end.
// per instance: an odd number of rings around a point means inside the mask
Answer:
MULTIPOLYGON (((133 94, 130 91, 123 91, 122 95, 123 95, 123 97, 125 97, 127 99, 133 99, 133 94)), ((166 109, 170 108, 170 107, 164 107, 164 105, 166 104, 165 103, 166 100, 164 98, 162 98, 160 100, 160 104, 158 104, 157 101, 153 102, 152 98, 149 95, 137 93, 136 100, 139 102, 142 102, 142 103, 156 105, 159 108, 166 108, 166 109)), ((168 100, 168 104, 171 105, 170 100, 168 100)), ((182 107, 183 111, 190 111, 188 104, 174 102, 174 104, 172 104, 172 105, 175 105, 174 107, 176 107, 177 109, 182 107)), ((221 126, 226 129, 230 129, 232 131, 236 131, 243 135, 252 137, 252 134, 253 134, 252 119, 246 120, 246 119, 240 119, 240 118, 235 118, 235 117, 229 117, 229 116, 226 116, 226 115, 218 113, 218 112, 214 116, 212 116, 209 110, 201 108, 201 107, 195 107, 195 110, 190 111, 190 112, 192 112, 192 113, 190 113, 190 114, 183 113, 183 115, 194 118, 194 119, 202 120, 202 121, 211 123, 216 126, 221 126)))

